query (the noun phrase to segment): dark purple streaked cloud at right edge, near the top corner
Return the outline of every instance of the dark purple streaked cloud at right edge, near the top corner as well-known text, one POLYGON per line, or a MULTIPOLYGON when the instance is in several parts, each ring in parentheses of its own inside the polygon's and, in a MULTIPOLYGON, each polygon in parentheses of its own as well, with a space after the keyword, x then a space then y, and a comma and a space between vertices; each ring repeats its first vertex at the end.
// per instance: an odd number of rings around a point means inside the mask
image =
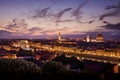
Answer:
POLYGON ((111 17, 111 16, 120 16, 120 4, 118 5, 112 5, 112 6, 106 6, 105 10, 112 10, 109 11, 108 13, 105 13, 99 17, 100 20, 103 20, 106 17, 111 17))

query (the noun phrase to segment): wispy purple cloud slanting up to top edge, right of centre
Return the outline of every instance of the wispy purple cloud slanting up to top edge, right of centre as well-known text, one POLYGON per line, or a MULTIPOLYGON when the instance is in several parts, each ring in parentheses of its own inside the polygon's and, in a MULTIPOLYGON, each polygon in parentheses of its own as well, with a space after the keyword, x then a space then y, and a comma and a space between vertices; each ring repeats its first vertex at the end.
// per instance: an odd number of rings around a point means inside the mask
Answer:
POLYGON ((85 1, 83 4, 80 4, 75 10, 73 10, 71 17, 75 17, 76 21, 79 21, 79 19, 82 17, 81 15, 83 14, 81 8, 85 6, 87 3, 88 1, 85 1))

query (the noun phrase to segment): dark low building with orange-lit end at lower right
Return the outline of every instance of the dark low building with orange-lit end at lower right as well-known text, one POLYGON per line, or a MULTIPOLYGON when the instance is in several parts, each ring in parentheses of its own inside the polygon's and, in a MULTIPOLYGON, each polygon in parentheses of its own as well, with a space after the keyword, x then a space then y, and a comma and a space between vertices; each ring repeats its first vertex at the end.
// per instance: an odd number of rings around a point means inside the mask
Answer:
POLYGON ((118 65, 90 60, 83 60, 84 67, 98 74, 118 73, 118 65))

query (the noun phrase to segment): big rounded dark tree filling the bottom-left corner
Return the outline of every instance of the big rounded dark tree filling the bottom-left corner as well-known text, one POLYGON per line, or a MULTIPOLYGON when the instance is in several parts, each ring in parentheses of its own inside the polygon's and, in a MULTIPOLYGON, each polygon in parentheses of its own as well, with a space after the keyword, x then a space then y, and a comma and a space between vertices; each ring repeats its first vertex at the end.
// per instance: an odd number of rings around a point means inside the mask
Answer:
POLYGON ((0 59, 0 78, 33 80, 41 74, 41 69, 36 64, 21 59, 0 59), (3 76, 2 76, 3 75, 3 76), (4 77, 4 75, 6 75, 4 77))

